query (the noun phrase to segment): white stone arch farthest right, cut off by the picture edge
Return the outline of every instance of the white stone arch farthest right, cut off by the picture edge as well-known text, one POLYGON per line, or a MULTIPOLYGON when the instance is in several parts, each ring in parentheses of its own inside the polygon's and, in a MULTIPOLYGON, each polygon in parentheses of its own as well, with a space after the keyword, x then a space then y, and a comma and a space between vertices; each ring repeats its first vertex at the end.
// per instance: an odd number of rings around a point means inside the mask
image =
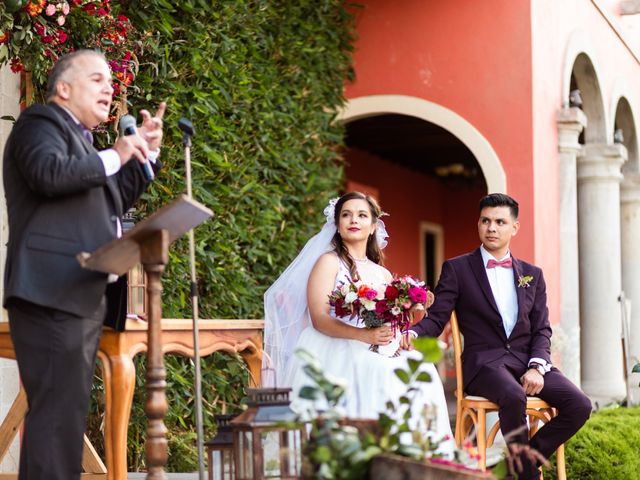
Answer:
POLYGON ((638 124, 633 106, 637 105, 637 99, 633 90, 624 78, 617 78, 611 89, 611 103, 609 106, 609 118, 611 118, 611 138, 615 132, 615 125, 624 131, 624 146, 627 148, 627 161, 622 166, 624 173, 640 172, 640 154, 638 152, 638 124))

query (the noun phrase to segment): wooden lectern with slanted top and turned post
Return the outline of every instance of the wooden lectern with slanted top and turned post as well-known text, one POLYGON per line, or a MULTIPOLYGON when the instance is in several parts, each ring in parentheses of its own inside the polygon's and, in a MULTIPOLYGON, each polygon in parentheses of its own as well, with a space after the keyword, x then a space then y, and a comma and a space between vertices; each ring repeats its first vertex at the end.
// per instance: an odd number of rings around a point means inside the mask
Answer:
POLYGON ((90 270, 124 275, 134 265, 142 263, 147 274, 149 328, 144 411, 148 419, 145 454, 149 480, 164 480, 168 454, 167 429, 164 425, 168 406, 161 339, 160 277, 169 260, 171 242, 212 215, 213 212, 207 207, 183 195, 138 223, 122 238, 103 245, 93 253, 78 254, 80 264, 90 270))

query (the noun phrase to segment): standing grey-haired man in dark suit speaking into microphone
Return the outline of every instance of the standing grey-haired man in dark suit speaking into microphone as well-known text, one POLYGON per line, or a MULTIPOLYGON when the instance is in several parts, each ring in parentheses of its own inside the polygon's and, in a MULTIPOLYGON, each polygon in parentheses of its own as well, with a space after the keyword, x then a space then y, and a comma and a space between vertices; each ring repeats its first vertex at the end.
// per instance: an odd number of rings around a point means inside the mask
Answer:
POLYGON ((113 87, 104 56, 80 50, 49 76, 47 104, 27 108, 4 153, 9 217, 4 306, 27 393, 20 479, 79 479, 107 274, 76 260, 118 237, 120 218, 154 169, 161 104, 136 135, 98 152, 90 130, 109 117, 113 87), (130 161, 131 160, 131 161, 130 161))

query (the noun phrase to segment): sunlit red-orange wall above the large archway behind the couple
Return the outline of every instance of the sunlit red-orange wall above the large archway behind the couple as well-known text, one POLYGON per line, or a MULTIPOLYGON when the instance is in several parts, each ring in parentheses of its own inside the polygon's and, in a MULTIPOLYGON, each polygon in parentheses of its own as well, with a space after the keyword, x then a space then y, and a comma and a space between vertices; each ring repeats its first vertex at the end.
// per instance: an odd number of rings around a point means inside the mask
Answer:
MULTIPOLYGON (((356 10, 356 80, 346 86, 347 97, 415 96, 453 110, 478 129, 502 162, 508 179, 507 192, 521 205, 523 221, 514 243, 515 253, 533 260, 528 2, 483 0, 471 5, 465 0, 363 0, 359 3, 363 7, 356 10)), ((454 198, 451 192, 440 193, 439 205, 470 202, 475 212, 476 195, 465 199, 454 198)), ((430 196, 429 200, 433 203, 436 198, 430 196)), ((423 206, 428 209, 429 203, 424 202, 423 206)), ((445 235, 448 251, 458 250, 448 245, 458 241, 457 230, 445 235)))

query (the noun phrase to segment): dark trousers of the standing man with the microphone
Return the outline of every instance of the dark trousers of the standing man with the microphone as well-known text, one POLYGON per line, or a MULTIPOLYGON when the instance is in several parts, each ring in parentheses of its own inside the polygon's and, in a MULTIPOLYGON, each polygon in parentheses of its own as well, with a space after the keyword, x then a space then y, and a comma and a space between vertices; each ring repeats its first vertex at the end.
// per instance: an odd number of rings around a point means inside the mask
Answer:
POLYGON ((12 299, 11 339, 27 393, 19 480, 74 480, 105 305, 90 318, 12 299))

